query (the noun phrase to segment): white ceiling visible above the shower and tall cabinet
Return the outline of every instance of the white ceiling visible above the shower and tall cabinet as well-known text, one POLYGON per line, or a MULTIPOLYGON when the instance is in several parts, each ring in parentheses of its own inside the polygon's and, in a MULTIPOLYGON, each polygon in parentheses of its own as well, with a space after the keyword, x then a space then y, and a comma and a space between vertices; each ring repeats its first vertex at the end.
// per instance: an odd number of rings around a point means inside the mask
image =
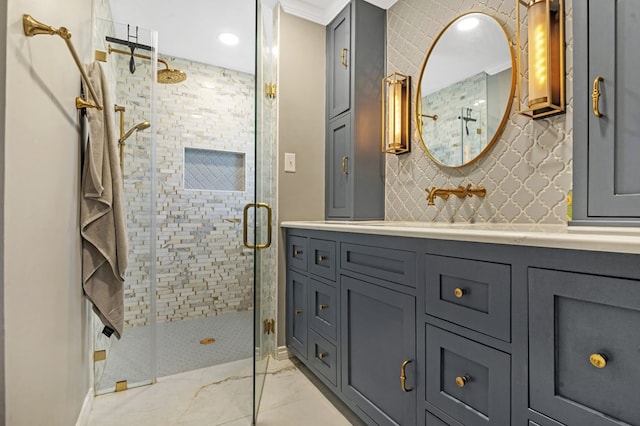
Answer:
MULTIPOLYGON (((275 4, 277 0, 263 0, 275 4)), ((388 9, 397 0, 367 0, 388 9)), ((113 20, 158 31, 159 53, 253 74, 255 0, 110 0, 113 20), (234 47, 218 41, 230 32, 234 47)), ((326 25, 348 0, 280 0, 285 12, 326 25)), ((127 39, 126 25, 117 30, 127 39)), ((151 44, 150 40, 140 40, 151 44)))

